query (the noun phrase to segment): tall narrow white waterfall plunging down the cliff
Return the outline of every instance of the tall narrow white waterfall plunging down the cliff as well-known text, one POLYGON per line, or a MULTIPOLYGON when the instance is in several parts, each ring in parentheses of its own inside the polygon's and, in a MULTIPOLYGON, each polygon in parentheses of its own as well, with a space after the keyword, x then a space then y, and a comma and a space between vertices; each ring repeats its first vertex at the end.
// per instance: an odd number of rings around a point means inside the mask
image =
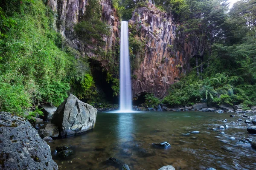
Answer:
POLYGON ((128 44, 128 23, 122 21, 120 44, 120 110, 131 112, 131 72, 128 44))

